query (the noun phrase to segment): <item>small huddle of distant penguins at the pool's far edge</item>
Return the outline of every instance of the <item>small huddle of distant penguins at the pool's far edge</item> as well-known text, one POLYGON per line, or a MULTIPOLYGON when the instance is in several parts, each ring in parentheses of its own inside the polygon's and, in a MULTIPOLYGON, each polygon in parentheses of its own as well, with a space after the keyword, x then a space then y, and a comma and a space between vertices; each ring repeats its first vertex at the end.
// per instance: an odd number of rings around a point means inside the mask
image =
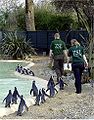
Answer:
POLYGON ((16 71, 18 73, 24 74, 24 75, 31 75, 31 76, 35 76, 34 72, 32 70, 30 70, 29 68, 24 68, 21 65, 17 65, 16 67, 16 71))

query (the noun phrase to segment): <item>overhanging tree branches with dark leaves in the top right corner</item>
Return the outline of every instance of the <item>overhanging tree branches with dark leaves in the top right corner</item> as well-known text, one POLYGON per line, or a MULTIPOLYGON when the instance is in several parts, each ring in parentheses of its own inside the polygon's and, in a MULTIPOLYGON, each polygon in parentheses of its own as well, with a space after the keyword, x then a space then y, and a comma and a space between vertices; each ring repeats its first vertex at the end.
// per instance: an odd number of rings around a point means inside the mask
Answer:
POLYGON ((91 0, 66 0, 66 1, 56 1, 51 0, 52 4, 55 5, 58 12, 68 12, 75 11, 78 18, 79 28, 84 28, 90 31, 91 27, 91 16, 90 16, 90 4, 91 0), (63 7, 62 7, 63 6, 63 7))

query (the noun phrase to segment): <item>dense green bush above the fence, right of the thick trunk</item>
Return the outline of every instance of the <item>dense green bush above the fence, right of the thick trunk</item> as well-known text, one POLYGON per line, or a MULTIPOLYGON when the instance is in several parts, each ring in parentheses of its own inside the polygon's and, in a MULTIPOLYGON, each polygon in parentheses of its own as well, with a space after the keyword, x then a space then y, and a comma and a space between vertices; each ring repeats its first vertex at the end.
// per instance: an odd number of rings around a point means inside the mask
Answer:
MULTIPOLYGON (((37 9, 35 12, 35 25, 37 30, 68 30, 76 22, 69 14, 58 14, 46 9, 37 9)), ((76 27, 74 27, 76 28, 76 27)))

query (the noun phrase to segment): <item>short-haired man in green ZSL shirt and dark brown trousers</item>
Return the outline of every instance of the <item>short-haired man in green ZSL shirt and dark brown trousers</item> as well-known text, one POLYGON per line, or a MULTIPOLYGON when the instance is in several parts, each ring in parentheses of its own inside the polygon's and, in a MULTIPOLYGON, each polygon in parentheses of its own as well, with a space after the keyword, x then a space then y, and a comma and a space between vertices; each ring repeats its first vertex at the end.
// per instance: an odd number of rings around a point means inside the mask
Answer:
POLYGON ((59 33, 55 33, 54 40, 50 46, 50 53, 49 57, 54 59, 54 69, 57 74, 57 81, 59 77, 62 77, 64 73, 63 63, 64 63, 64 56, 67 56, 67 48, 65 43, 61 40, 59 33))

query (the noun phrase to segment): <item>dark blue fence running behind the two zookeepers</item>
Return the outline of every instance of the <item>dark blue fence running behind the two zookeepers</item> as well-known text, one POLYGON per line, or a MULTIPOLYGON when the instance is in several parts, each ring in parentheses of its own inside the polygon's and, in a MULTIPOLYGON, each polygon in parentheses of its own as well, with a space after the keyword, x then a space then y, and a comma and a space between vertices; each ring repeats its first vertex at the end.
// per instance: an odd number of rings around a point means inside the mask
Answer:
MULTIPOLYGON (((7 31, 8 32, 8 31, 7 31)), ((32 42, 32 46, 42 51, 49 51, 50 44, 54 39, 54 34, 56 31, 19 31, 18 35, 26 37, 27 40, 32 42)), ((70 40, 75 38, 83 46, 86 46, 86 41, 89 39, 89 35, 86 31, 61 31, 61 39, 66 43, 67 46, 70 45, 70 40)), ((0 39, 4 37, 3 32, 0 32, 0 39)))

